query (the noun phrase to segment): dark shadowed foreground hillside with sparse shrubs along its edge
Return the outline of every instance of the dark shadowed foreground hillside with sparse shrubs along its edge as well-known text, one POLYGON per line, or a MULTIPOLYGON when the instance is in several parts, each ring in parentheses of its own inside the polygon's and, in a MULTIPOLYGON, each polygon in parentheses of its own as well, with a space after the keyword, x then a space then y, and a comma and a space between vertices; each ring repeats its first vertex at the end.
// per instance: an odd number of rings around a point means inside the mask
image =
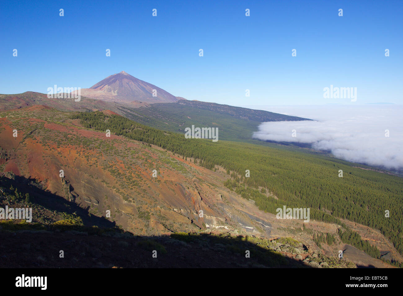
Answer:
POLYGON ((31 207, 34 213, 31 223, 0 221, 0 267, 355 267, 286 238, 221 231, 135 236, 46 192, 35 180, 6 173, 0 188, 1 207, 31 207))

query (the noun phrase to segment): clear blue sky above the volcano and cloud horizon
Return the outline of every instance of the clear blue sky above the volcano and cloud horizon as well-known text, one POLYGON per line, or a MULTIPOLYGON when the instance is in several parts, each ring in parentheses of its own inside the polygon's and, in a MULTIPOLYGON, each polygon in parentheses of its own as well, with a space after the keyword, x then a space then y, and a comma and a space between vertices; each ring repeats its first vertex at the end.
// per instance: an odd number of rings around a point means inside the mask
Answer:
POLYGON ((402 15, 403 1, 3 0, 0 93, 88 88, 125 70, 235 106, 403 103, 402 15), (330 85, 357 87, 357 101, 324 99, 330 85))

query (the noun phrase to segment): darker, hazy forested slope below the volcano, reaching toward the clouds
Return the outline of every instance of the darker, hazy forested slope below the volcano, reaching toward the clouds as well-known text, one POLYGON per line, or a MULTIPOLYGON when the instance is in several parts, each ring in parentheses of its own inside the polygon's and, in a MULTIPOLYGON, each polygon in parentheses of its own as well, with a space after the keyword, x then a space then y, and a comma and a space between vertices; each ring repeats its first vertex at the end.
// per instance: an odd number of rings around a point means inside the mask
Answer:
POLYGON ((262 122, 308 120, 296 116, 263 110, 180 100, 176 103, 155 103, 147 108, 118 107, 119 114, 135 122, 161 130, 184 132, 185 127, 218 127, 220 139, 247 143, 265 143, 252 139, 253 132, 262 122))

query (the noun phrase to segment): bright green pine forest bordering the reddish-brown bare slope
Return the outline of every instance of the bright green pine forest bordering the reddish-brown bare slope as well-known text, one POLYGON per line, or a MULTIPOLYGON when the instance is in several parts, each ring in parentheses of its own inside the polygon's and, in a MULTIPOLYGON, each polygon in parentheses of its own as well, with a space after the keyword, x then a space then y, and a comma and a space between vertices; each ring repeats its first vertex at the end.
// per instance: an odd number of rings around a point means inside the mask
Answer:
MULTIPOLYGON (((334 222, 345 227, 339 218, 348 219, 378 229, 403 254, 403 179, 372 170, 354 168, 349 162, 328 155, 291 151, 265 145, 208 139, 185 139, 183 134, 162 131, 102 112, 75 113, 85 128, 105 132, 160 146, 199 160, 199 165, 215 170, 222 166, 232 178, 225 186, 244 198, 253 199, 258 207, 270 213, 276 208, 310 207, 311 219, 334 222), (245 177, 245 170, 250 177, 245 177), (339 177, 343 170, 343 177, 339 177), (267 197, 266 188, 278 200, 267 197), (264 190, 266 190, 264 189, 264 190), (385 210, 390 217, 385 217, 385 210)), ((354 164, 354 166, 358 166, 354 164)), ((346 228, 346 227, 345 227, 346 228)), ((339 233, 349 242, 379 257, 368 242, 358 239, 347 229, 339 233)), ((354 232, 355 233, 355 232, 354 232)))

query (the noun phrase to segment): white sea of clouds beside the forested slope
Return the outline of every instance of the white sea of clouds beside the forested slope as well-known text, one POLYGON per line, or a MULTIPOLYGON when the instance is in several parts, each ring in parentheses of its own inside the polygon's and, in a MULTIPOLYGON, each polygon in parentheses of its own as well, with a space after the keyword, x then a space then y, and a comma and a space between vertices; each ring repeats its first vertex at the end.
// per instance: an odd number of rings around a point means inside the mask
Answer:
POLYGON ((310 143, 347 161, 388 170, 403 169, 403 106, 249 106, 316 121, 263 122, 253 137, 310 143), (297 137, 292 137, 296 130, 297 137), (389 137, 385 137, 389 130, 389 137))

